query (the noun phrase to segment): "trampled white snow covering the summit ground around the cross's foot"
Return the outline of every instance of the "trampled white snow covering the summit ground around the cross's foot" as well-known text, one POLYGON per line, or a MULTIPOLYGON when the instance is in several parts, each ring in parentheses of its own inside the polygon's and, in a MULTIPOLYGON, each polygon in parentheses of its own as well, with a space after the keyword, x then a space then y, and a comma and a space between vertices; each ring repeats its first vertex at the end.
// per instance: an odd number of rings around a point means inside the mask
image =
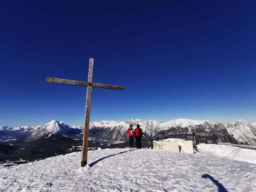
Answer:
POLYGON ((256 164, 218 157, 223 148, 216 144, 198 146, 201 155, 146 148, 88 151, 86 168, 80 168, 81 152, 5 167, 0 191, 256 190, 256 164))

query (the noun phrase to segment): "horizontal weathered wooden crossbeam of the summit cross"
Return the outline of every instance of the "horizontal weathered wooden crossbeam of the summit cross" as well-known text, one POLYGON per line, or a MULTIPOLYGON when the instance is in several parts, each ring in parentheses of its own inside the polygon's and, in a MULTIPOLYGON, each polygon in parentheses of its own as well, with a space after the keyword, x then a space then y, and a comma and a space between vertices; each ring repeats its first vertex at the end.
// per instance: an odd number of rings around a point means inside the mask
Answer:
POLYGON ((122 86, 106 85, 106 84, 91 83, 91 82, 84 82, 84 81, 75 81, 75 80, 69 80, 69 79, 59 79, 59 78, 52 78, 52 77, 46 77, 46 81, 48 83, 78 85, 78 86, 84 86, 84 87, 92 86, 92 87, 96 87, 96 88, 105 88, 105 89, 117 89, 117 90, 124 89, 124 87, 122 87, 122 86))

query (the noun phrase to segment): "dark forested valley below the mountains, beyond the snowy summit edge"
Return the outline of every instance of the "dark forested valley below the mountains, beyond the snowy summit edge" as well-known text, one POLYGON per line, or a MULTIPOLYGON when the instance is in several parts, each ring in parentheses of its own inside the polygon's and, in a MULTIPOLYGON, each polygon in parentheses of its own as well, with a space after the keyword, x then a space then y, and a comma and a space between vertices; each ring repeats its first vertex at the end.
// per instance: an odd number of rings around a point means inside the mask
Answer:
MULTIPOLYGON (((150 142, 142 140, 143 148, 149 148, 150 142)), ((129 141, 89 140, 88 151, 105 148, 125 148, 129 141)), ((135 142, 134 142, 135 146, 135 142)), ((49 157, 82 151, 82 139, 50 137, 32 142, 11 142, 0 144, 0 167, 39 161, 49 157)))

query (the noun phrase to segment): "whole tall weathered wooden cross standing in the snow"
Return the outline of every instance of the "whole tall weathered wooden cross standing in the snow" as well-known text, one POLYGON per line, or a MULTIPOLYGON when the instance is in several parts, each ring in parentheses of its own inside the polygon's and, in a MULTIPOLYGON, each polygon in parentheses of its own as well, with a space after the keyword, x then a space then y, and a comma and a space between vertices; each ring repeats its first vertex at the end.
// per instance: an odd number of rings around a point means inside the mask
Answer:
POLYGON ((81 167, 84 167, 87 165, 87 151, 88 151, 88 136, 89 136, 92 87, 105 88, 105 89, 117 89, 117 90, 124 89, 124 87, 122 87, 122 86, 93 83, 92 82, 92 69, 93 69, 93 58, 90 58, 88 82, 68 80, 68 79, 58 79, 58 78, 52 78, 52 77, 46 78, 46 81, 49 83, 59 83, 59 84, 78 85, 78 86, 87 87, 81 167))

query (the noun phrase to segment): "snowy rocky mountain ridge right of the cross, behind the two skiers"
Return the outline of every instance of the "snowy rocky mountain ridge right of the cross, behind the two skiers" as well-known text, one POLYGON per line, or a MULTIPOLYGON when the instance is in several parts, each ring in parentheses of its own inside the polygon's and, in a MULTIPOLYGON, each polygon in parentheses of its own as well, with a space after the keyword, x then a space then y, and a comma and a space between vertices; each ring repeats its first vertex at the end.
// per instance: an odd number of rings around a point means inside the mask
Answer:
POLYGON ((191 137, 192 132, 195 132, 197 139, 203 139, 203 135, 206 134, 207 139, 214 141, 256 145, 256 123, 248 123, 242 119, 226 124, 218 121, 191 119, 174 119, 163 122, 152 119, 148 121, 130 119, 125 121, 92 122, 90 123, 91 137, 125 141, 127 140, 126 131, 129 124, 133 124, 135 127, 140 124, 145 138, 164 135, 191 137))

